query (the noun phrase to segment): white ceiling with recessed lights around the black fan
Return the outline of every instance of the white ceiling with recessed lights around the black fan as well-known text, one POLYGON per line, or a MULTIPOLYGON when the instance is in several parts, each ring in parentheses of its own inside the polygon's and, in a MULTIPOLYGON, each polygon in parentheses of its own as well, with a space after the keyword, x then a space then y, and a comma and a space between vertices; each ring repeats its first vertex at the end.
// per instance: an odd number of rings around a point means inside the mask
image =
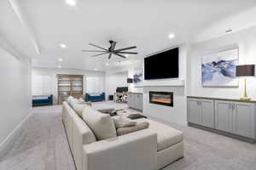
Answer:
POLYGON ((0 0, 0 37, 31 57, 33 66, 107 71, 189 42, 212 23, 255 5, 255 0, 76 0, 76 6, 65 0, 0 0), (170 40, 172 32, 176 38, 170 40), (118 42, 117 48, 136 45, 132 51, 139 54, 108 60, 107 54, 91 58, 95 53, 81 52, 96 49, 90 42, 108 48, 110 39, 118 42))

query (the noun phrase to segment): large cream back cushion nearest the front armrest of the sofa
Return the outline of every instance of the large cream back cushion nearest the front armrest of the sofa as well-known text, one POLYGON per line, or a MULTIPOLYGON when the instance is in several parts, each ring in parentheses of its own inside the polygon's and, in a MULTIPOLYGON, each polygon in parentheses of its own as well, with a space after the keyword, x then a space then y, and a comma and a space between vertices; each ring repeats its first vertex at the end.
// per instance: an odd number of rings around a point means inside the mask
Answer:
POLYGON ((113 119, 108 114, 102 114, 90 106, 85 106, 83 119, 93 131, 97 140, 110 139, 117 136, 113 119))

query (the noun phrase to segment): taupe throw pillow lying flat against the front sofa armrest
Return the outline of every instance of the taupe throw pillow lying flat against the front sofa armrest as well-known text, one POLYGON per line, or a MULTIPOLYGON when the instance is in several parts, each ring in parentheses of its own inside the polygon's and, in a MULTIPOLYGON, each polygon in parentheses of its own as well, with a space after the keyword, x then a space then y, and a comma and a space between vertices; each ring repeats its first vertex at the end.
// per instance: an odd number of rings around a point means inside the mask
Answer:
POLYGON ((136 126, 134 127, 121 127, 119 129, 117 129, 117 134, 118 136, 127 134, 127 133, 133 133, 139 130, 143 130, 149 127, 149 123, 148 122, 138 122, 136 124, 136 126))

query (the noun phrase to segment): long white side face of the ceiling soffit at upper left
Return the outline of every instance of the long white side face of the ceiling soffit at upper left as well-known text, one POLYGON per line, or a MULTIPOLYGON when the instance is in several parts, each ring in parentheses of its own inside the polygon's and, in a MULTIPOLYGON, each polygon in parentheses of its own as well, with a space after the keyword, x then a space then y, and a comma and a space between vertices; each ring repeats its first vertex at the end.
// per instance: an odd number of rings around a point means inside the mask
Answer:
POLYGON ((37 54, 41 54, 40 47, 35 36, 32 26, 29 25, 29 22, 26 20, 25 14, 22 13, 22 10, 19 6, 19 3, 16 0, 9 0, 11 7, 14 9, 16 16, 20 20, 20 23, 25 26, 26 31, 29 35, 29 38, 32 42, 33 47, 35 48, 37 54))

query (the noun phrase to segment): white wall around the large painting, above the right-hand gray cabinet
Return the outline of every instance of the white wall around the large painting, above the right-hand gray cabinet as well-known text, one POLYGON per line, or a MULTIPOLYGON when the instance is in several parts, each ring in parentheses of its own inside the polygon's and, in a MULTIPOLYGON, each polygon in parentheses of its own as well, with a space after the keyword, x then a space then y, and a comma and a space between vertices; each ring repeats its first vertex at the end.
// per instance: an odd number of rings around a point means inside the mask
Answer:
MULTIPOLYGON (((256 64, 256 27, 218 37, 207 42, 192 44, 191 62, 188 77, 189 95, 239 99, 242 95, 243 83, 239 88, 203 88, 201 86, 201 55, 212 53, 229 47, 239 48, 239 64, 256 64)), ((256 78, 247 79, 247 94, 256 99, 256 78)))

